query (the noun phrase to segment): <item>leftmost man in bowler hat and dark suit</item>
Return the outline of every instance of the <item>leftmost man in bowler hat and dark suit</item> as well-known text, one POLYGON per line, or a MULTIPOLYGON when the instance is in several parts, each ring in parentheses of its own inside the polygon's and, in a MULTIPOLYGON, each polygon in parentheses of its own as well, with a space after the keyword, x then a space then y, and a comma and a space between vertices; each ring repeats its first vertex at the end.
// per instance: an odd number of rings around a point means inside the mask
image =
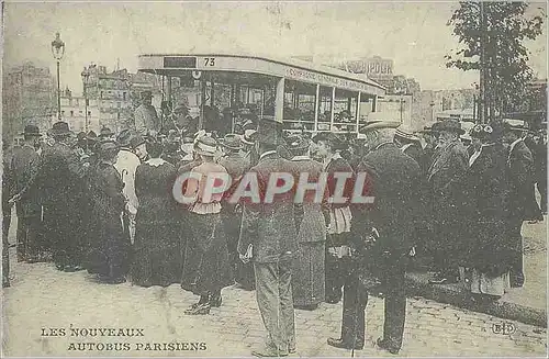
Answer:
POLYGON ((37 141, 42 136, 38 127, 26 125, 24 143, 13 149, 10 168, 14 183, 18 213, 18 261, 35 262, 43 257, 40 243, 42 206, 38 193, 31 186, 38 170, 40 156, 36 153, 37 141), (24 194, 20 194, 24 193, 24 194))

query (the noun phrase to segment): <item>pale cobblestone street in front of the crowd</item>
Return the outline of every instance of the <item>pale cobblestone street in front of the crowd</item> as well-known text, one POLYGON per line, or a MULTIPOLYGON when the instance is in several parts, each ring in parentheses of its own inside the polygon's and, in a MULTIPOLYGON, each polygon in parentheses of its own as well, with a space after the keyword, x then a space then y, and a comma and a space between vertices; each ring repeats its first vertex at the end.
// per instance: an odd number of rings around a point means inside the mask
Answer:
MULTIPOLYGON (((61 273, 51 263, 13 266, 12 287, 4 295, 4 356, 250 356, 266 335, 255 292, 227 288, 224 302, 211 315, 187 316, 197 299, 178 285, 138 288, 105 285, 86 272, 61 273), (70 328, 142 328, 143 337, 75 337, 70 328), (42 328, 65 328, 66 336, 42 336, 42 328), (135 344, 202 341, 204 351, 136 350, 135 344), (128 351, 69 350, 71 343, 130 343, 128 351)), ((326 338, 339 335, 340 304, 322 304, 313 312, 296 311, 301 357, 348 357, 326 338)), ((367 308, 367 344, 357 357, 391 356, 374 348, 382 332, 383 302, 372 298, 367 308)), ((401 356, 545 356, 546 329, 512 323, 516 332, 494 334, 503 321, 424 299, 408 299, 401 356)), ((102 348, 102 346, 99 346, 102 348)), ((154 349, 154 345, 150 347, 154 349)))

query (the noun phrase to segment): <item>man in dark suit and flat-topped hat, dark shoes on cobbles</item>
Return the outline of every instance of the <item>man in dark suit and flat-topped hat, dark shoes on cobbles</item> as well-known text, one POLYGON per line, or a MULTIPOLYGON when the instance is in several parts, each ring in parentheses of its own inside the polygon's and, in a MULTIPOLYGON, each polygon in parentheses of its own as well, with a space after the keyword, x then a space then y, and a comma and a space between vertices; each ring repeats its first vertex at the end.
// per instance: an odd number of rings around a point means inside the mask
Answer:
MULTIPOLYGON (((355 299, 344 300, 341 346, 361 349, 365 341, 365 308, 368 302, 369 283, 360 279, 377 277, 385 289, 385 313, 383 338, 378 346, 391 354, 397 354, 402 346, 406 315, 404 273, 412 248, 413 228, 417 226, 419 202, 419 165, 394 144, 394 127, 391 122, 366 125, 362 132, 374 132, 372 150, 357 167, 357 176, 367 173, 368 183, 362 192, 374 198, 372 205, 357 206, 356 233, 361 238, 356 249, 361 255, 360 274, 355 299), (372 243, 367 234, 372 229, 379 234, 372 243), (367 240, 370 244, 367 245, 367 240), (360 283, 360 284, 359 284, 360 283)), ((346 293, 347 294, 347 293, 346 293)))

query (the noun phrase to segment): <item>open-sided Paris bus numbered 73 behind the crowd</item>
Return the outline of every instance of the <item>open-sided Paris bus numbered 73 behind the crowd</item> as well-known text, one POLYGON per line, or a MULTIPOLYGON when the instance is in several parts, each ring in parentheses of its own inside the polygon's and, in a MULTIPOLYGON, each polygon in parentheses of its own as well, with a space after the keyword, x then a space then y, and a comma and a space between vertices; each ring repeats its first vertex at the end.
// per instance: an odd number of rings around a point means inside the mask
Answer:
POLYGON ((298 59, 145 54, 138 56, 138 70, 161 77, 163 109, 172 111, 186 99, 199 130, 222 133, 266 117, 290 132, 358 133, 385 94, 365 75, 298 59))

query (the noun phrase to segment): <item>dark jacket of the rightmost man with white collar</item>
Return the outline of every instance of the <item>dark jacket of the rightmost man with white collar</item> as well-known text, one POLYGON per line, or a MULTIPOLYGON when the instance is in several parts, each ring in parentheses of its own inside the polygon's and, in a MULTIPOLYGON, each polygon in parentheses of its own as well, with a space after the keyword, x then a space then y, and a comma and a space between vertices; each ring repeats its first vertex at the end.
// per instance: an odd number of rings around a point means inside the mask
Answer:
POLYGON ((523 141, 519 141, 507 155, 505 171, 508 186, 507 207, 509 215, 526 218, 534 186, 534 158, 523 141))

